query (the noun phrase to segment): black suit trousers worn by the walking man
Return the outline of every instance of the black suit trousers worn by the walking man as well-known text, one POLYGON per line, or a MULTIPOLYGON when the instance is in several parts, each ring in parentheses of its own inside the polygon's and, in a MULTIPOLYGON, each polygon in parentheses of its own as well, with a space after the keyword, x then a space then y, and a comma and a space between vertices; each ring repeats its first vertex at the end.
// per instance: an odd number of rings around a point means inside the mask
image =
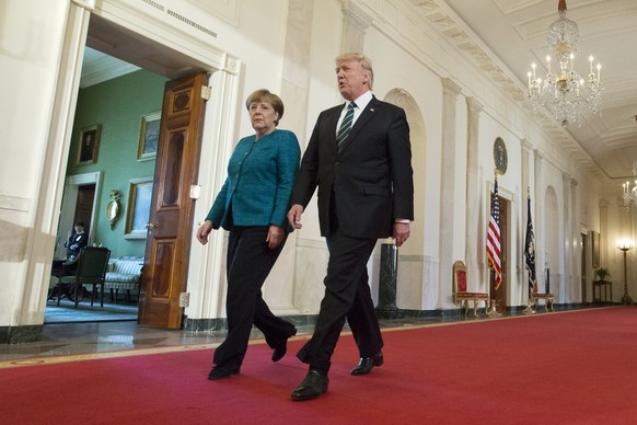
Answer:
POLYGON ((346 319, 360 357, 371 357, 381 351, 383 338, 367 273, 375 243, 375 239, 350 238, 338 229, 327 238, 329 262, 324 279, 325 296, 314 334, 297 354, 301 361, 328 371, 346 319))

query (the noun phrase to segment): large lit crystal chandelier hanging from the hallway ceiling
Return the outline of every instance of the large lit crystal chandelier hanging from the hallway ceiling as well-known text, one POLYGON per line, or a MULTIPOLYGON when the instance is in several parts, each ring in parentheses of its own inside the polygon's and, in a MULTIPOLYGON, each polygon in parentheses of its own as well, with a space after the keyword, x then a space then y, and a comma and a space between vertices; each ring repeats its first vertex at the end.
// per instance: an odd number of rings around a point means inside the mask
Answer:
POLYGON ((566 0, 559 0, 559 19, 548 27, 548 46, 558 64, 556 73, 551 69, 551 55, 546 56, 548 73, 544 79, 536 74, 535 64, 529 72, 529 102, 537 116, 548 115, 563 127, 576 123, 583 112, 595 113, 602 97, 600 64, 593 70, 593 57, 589 57, 588 80, 575 70, 575 53, 578 48, 577 23, 566 18, 566 0))

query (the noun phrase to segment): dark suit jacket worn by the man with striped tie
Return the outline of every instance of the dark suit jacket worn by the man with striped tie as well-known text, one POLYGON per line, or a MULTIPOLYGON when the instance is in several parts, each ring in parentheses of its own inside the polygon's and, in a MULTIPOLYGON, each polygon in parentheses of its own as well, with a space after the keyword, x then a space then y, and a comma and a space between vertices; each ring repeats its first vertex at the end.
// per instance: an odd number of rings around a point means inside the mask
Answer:
POLYGON ((412 148, 405 112, 373 96, 338 153, 336 125, 343 107, 332 107, 319 116, 291 204, 305 208, 319 186, 323 237, 331 233, 332 199, 344 234, 391 237, 394 219, 414 219, 412 148))

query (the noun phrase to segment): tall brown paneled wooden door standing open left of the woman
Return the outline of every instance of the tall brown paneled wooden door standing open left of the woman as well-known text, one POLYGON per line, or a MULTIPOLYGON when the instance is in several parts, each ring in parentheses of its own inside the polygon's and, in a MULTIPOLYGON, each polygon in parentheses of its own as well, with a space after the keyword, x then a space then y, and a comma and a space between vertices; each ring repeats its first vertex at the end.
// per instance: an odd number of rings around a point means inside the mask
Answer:
POLYGON ((179 329, 186 290, 194 199, 199 169, 206 72, 165 85, 138 323, 179 329))

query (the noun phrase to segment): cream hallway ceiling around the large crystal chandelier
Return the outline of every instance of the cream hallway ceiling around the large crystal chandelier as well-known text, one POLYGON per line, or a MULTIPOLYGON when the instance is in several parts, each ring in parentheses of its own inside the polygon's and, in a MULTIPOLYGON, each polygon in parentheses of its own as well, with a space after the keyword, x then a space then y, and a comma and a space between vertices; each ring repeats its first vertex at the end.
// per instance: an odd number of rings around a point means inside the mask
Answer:
MULTIPOLYGON (((426 14, 432 11, 432 1, 410 2, 426 14)), ((525 102, 526 72, 532 62, 545 64, 547 30, 558 18, 558 0, 444 2, 437 5, 447 8, 451 20, 463 21, 470 37, 479 37, 486 49, 508 68, 516 85, 522 89, 522 93, 510 88, 509 92, 519 102, 525 102)), ((579 26, 577 70, 588 73, 588 57, 594 56, 594 61, 602 64, 605 90, 598 114, 589 113, 567 127, 570 137, 564 139, 565 148, 602 176, 633 177, 633 161, 637 160, 637 1, 567 0, 567 18, 579 26)), ((463 26, 460 22, 458 25, 463 26)), ((456 45, 462 38, 456 37, 456 45)), ((563 131, 555 123, 546 125, 555 127, 555 134, 563 131)))

